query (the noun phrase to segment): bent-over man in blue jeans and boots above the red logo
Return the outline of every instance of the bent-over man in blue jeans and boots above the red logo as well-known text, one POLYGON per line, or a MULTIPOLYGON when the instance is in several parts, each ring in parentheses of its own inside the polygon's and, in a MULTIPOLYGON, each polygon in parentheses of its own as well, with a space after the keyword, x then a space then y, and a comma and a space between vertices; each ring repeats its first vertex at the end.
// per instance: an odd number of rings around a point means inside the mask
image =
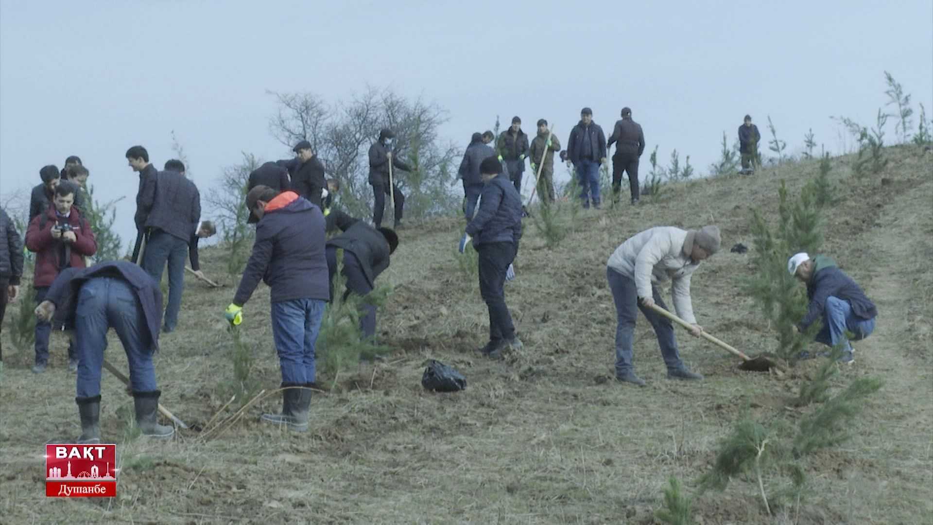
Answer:
POLYGON ((77 354, 77 443, 101 442, 101 369, 107 331, 117 333, 130 363, 136 426, 143 435, 171 437, 174 429, 156 421, 160 390, 152 355, 159 348, 162 292, 145 270, 132 262, 100 262, 67 268, 55 278, 35 307, 38 319, 74 330, 77 354), (80 315, 77 315, 80 313, 80 315))

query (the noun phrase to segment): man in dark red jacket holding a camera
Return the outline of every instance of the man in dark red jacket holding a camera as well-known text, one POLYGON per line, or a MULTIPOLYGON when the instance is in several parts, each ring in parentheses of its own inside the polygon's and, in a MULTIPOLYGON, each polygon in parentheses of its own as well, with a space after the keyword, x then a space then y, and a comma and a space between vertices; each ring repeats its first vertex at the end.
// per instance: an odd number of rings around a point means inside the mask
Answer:
MULTIPOLYGON (((84 268, 85 257, 97 252, 97 241, 88 220, 81 217, 75 204, 75 184, 63 180, 55 188, 52 204, 29 222, 26 248, 35 253, 35 304, 46 298, 52 281, 65 268, 84 268)), ((42 374, 49 362, 51 324, 35 323, 35 366, 33 373, 42 374)), ((68 344, 68 370, 77 370, 73 346, 68 344)))

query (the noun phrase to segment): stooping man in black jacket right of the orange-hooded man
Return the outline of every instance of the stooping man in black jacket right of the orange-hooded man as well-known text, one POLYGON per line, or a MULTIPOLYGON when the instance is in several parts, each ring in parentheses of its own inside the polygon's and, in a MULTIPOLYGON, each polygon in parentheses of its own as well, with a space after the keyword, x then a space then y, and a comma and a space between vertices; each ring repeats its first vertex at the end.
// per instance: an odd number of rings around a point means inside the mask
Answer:
MULTIPOLYGON (((355 219, 340 210, 327 215, 327 231, 340 228, 343 232, 327 240, 327 273, 331 285, 337 275, 337 250, 343 250, 343 271, 347 279, 346 299, 350 293, 363 297, 363 315, 359 319, 363 337, 375 341, 376 306, 366 301, 369 292, 376 287, 376 277, 389 267, 389 256, 398 247, 398 235, 388 228, 373 228, 362 220, 355 219)), ((330 292, 331 299, 334 296, 330 292)))

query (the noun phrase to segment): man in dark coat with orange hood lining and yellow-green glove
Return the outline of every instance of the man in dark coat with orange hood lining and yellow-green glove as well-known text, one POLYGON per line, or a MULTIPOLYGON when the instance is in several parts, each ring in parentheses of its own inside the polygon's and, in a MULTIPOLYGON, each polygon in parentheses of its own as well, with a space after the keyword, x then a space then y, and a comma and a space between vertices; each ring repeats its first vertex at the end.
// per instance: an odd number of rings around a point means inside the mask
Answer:
POLYGON ((272 288, 272 338, 282 369, 282 413, 263 414, 268 423, 308 430, 314 384, 314 345, 330 298, 325 220, 321 208, 298 193, 257 186, 246 207, 258 216, 253 253, 233 302, 224 312, 231 324, 243 321, 243 306, 262 280, 272 288))

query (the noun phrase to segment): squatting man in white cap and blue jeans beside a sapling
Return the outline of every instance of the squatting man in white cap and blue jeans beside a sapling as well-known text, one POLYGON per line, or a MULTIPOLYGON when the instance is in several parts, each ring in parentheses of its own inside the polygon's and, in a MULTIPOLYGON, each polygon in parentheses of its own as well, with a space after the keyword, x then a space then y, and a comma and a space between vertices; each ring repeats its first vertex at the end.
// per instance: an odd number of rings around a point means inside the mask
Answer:
MULTIPOLYGON (((856 341, 868 337, 874 331, 875 317, 878 316, 875 305, 856 281, 825 255, 810 257, 803 252, 796 253, 787 261, 787 271, 807 285, 807 298, 810 300, 797 330, 802 333, 816 319, 822 319, 823 329, 816 334, 816 341, 833 348, 839 346, 842 349, 839 362, 856 362, 855 349, 845 333, 854 333, 856 341)), ((829 356, 829 352, 820 355, 829 356)))

